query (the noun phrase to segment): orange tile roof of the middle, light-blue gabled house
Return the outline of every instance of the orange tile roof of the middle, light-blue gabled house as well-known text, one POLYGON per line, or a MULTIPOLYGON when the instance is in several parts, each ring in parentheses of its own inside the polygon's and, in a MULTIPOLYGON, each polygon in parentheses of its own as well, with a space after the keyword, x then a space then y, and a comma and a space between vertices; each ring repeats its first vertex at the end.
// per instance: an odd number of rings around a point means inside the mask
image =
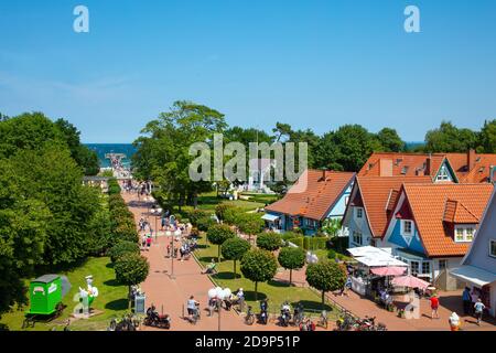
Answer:
MULTIPOLYGON (((373 237, 382 237, 388 225, 388 207, 402 183, 432 183, 430 176, 357 176, 357 192, 362 197, 373 237)), ((395 200, 396 202, 396 200, 395 200)))

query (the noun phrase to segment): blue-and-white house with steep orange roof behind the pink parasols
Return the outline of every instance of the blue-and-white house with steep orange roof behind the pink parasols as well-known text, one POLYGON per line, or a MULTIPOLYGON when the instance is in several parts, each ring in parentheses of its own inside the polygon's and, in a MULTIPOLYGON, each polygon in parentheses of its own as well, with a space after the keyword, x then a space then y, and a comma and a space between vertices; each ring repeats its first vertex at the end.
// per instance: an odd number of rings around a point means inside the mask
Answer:
POLYGON ((403 183, 388 203, 381 246, 410 272, 441 289, 455 289, 450 271, 461 266, 493 193, 492 183, 403 183))

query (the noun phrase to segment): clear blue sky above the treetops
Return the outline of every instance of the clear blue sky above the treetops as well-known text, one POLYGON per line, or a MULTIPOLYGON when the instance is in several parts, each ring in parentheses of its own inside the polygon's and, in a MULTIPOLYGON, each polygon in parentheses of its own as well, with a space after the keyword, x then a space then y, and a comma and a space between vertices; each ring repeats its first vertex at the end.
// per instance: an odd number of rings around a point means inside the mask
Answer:
POLYGON ((130 142, 177 99, 229 125, 409 141, 496 118, 494 0, 1 1, 0 39, 0 111, 66 118, 85 142, 130 142), (408 4, 421 33, 403 31, 408 4))

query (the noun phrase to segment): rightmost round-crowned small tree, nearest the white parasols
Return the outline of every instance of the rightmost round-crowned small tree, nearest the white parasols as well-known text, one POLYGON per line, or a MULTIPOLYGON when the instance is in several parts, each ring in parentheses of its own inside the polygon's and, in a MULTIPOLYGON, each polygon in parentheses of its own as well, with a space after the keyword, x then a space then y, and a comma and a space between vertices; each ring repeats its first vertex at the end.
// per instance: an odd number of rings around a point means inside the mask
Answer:
POLYGON ((342 289, 346 277, 346 269, 335 261, 320 261, 306 267, 306 281, 322 292, 322 307, 324 307, 325 293, 342 289))

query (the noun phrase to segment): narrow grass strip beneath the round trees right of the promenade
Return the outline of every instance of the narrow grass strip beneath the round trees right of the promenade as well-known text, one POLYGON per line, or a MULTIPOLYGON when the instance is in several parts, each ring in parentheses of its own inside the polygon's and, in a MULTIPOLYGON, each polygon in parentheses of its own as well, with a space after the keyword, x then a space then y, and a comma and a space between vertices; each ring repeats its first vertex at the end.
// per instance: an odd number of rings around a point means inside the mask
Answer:
MULTIPOLYGON (((200 249, 195 252, 196 258, 202 266, 207 265, 211 258, 214 257, 217 260, 217 246, 208 245, 206 237, 202 237, 198 240, 200 249)), ((282 269, 281 269, 282 270, 282 269)), ((256 311, 259 304, 255 301, 255 284, 240 274, 239 261, 237 263, 237 276, 235 278, 233 274, 233 261, 223 260, 217 264, 217 274, 212 276, 213 280, 223 288, 229 288, 235 291, 238 288, 242 288, 247 303, 252 306, 256 311)), ((309 310, 309 314, 320 314, 322 310, 321 296, 310 288, 290 287, 288 284, 271 280, 265 284, 258 284, 258 300, 268 298, 270 313, 279 313, 279 309, 284 301, 289 301, 294 307, 295 303, 301 302, 305 310, 309 310)), ((330 312, 330 319, 335 320, 337 317, 337 309, 333 308, 330 303, 325 308, 330 312)))

